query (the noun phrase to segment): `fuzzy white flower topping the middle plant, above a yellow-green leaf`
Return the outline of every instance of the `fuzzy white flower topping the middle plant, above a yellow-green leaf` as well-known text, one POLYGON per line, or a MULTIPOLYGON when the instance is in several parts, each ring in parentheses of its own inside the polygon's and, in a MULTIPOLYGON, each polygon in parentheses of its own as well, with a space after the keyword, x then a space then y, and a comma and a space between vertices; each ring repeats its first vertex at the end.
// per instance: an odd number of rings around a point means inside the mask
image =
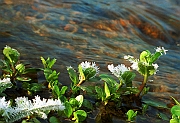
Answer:
POLYGON ((88 62, 88 61, 85 61, 85 62, 82 62, 81 64, 81 67, 82 69, 85 71, 87 68, 94 68, 96 70, 96 74, 99 73, 99 68, 98 66, 96 65, 95 62, 88 62))

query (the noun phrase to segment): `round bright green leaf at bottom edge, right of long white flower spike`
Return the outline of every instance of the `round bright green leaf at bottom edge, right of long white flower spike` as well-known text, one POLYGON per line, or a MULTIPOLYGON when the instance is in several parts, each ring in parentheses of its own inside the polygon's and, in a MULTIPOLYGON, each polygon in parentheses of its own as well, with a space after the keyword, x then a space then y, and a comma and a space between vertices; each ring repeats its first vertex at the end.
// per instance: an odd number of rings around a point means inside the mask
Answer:
POLYGON ((73 114, 74 114, 73 120, 76 120, 77 122, 82 122, 87 117, 87 113, 84 110, 77 110, 73 114))

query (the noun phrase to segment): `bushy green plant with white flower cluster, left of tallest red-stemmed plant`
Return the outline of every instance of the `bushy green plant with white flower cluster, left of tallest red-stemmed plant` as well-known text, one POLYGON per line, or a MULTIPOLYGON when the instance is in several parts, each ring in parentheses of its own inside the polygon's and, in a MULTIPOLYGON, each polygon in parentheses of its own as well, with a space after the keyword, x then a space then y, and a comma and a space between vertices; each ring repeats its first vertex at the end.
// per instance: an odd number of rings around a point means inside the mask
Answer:
POLYGON ((138 89, 132 87, 132 80, 135 74, 129 71, 125 65, 121 64, 114 67, 113 64, 108 65, 108 69, 114 74, 119 82, 107 74, 101 74, 99 77, 104 82, 104 89, 95 86, 97 98, 101 99, 106 105, 108 101, 121 102, 121 95, 135 94, 138 89))

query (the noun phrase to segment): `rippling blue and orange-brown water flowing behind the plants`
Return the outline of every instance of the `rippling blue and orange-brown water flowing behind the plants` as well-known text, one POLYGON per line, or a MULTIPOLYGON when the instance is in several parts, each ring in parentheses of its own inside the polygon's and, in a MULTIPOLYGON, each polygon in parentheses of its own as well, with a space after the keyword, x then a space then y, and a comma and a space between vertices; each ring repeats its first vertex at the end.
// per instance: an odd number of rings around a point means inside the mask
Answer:
POLYGON ((163 46, 147 97, 180 99, 179 0, 0 0, 0 49, 6 45, 33 66, 42 66, 40 56, 56 58, 64 84, 66 66, 95 61, 108 72, 109 63, 129 65, 124 55, 163 46))

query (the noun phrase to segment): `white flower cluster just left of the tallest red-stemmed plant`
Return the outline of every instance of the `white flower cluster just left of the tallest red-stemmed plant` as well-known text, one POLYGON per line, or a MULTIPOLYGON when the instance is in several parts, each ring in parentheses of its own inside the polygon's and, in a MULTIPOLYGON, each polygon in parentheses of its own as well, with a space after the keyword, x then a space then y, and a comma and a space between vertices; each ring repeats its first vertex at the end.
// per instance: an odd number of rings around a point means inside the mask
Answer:
POLYGON ((111 71, 112 74, 114 74, 118 78, 121 77, 121 75, 123 75, 125 71, 130 70, 124 64, 118 65, 116 67, 114 67, 114 65, 111 64, 111 65, 108 65, 108 69, 111 71))

